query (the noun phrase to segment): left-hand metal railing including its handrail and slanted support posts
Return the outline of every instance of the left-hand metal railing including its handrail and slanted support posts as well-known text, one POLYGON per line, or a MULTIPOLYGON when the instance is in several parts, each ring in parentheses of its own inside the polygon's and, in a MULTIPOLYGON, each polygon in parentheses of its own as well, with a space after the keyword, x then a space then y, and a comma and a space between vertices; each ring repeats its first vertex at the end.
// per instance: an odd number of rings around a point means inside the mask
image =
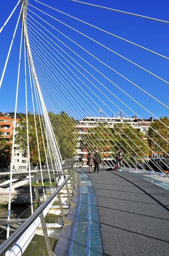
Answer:
MULTIPOLYGON (((68 223, 68 222, 66 222, 66 218, 65 218, 65 215, 63 212, 62 202, 60 199, 59 192, 61 192, 61 190, 65 187, 67 189, 68 198, 70 201, 70 192, 69 192, 69 188, 68 188, 68 181, 70 181, 72 192, 73 192, 73 194, 76 193, 74 191, 74 187, 75 187, 74 173, 76 172, 76 169, 79 166, 79 160, 78 159, 69 159, 69 160, 65 161, 65 163, 67 164, 67 165, 65 165, 65 167, 68 166, 68 171, 69 171, 69 173, 71 172, 70 175, 67 178, 65 178, 63 183, 58 188, 56 188, 56 186, 43 186, 46 188, 54 188, 55 187, 56 190, 51 194, 51 196, 43 204, 39 204, 38 205, 39 208, 37 208, 37 210, 6 241, 4 241, 2 245, 0 245, 0 256, 4 256, 4 254, 16 243, 16 241, 23 235, 23 233, 30 227, 30 225, 34 223, 34 221, 38 218, 39 215, 41 218, 41 224, 43 227, 43 232, 44 232, 47 249, 48 249, 48 247, 50 247, 49 240, 48 240, 48 233, 45 228, 43 211, 46 209, 46 207, 48 207, 48 205, 51 203, 52 200, 54 200, 54 198, 56 196, 59 199, 59 206, 61 209, 63 223, 68 223), (75 167, 73 168, 73 166, 75 166, 75 167)), ((63 174, 56 174, 56 176, 58 176, 58 175, 65 176, 66 174, 64 173, 64 170, 63 170, 63 174)), ((41 189, 41 187, 39 187, 39 189, 41 189)), ((36 192, 36 189, 35 189, 35 192, 36 192)), ((37 195, 37 196, 39 196, 39 195, 37 195)), ((37 201, 39 201, 39 198, 37 199, 37 201)), ((72 201, 70 201, 70 205, 71 204, 73 204, 72 201)), ((22 248, 20 248, 20 250, 22 250, 22 248)), ((52 255, 50 253, 48 253, 48 254, 52 255)))

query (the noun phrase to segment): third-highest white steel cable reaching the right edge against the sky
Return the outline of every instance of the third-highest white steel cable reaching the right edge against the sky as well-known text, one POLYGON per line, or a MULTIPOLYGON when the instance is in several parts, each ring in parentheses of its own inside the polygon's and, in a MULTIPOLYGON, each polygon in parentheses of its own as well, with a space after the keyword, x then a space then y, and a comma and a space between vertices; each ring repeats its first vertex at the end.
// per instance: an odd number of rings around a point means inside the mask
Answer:
MULTIPOLYGON (((29 4, 29 5, 30 5, 30 4, 29 4)), ((32 6, 32 5, 31 5, 31 6, 32 6)), ((34 7, 34 6, 32 6, 32 7, 34 7)), ((115 53, 116 55, 118 55, 119 57, 125 59, 126 61, 129 61, 130 63, 134 64, 136 67, 141 68, 141 70, 144 70, 144 71, 146 71, 147 73, 149 73, 150 75, 155 76, 156 78, 158 78, 158 79, 160 79, 161 81, 165 82, 166 84, 169 84, 169 82, 167 82, 166 80, 162 79, 162 78, 159 77, 159 76, 156 76, 154 73, 150 72, 149 70, 146 70, 144 67, 141 67, 141 66, 139 66, 138 64, 136 64, 135 62, 130 61, 128 58, 125 58, 124 56, 122 56, 122 55, 120 55, 119 53, 113 51, 112 49, 106 47, 105 45, 99 43, 98 41, 94 40, 93 38, 90 38, 89 36, 85 35, 84 33, 80 32, 79 30, 74 29, 73 27, 69 26, 68 24, 66 24, 66 23, 64 23, 64 22, 62 22, 62 21, 60 21, 60 20, 54 18, 53 16, 47 14, 46 12, 43 12, 42 10, 40 10, 40 9, 38 9, 38 8, 36 8, 36 7, 34 7, 34 8, 37 9, 38 11, 40 11, 40 12, 42 12, 42 13, 48 15, 49 17, 53 18, 54 20, 57 20, 58 22, 64 24, 65 26, 69 27, 70 29, 73 29, 74 31, 78 32, 79 34, 84 35, 86 38, 88 38, 88 39, 90 39, 91 41, 93 41, 93 42, 99 44, 100 46, 104 47, 105 49, 109 50, 110 52, 115 53)), ((30 9, 28 9, 28 10, 29 10, 30 12, 32 12, 30 9)), ((39 17, 39 16, 38 16, 37 14, 35 14, 34 12, 32 12, 32 13, 33 13, 34 15, 36 15, 37 17, 39 17)), ((41 17, 39 17, 39 18, 40 18, 41 20, 43 20, 41 17)))

